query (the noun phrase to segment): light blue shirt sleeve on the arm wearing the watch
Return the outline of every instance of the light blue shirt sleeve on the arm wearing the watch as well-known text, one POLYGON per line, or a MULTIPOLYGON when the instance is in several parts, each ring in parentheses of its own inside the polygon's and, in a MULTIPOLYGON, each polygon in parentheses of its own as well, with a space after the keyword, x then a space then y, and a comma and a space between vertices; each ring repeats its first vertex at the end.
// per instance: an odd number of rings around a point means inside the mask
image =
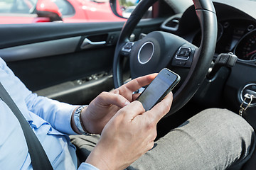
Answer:
POLYGON ((5 72, 5 75, 2 75, 4 79, 3 85, 21 111, 27 111, 23 109, 23 104, 26 104, 28 111, 46 120, 55 130, 67 135, 77 135, 71 128, 70 121, 74 109, 78 106, 61 103, 50 98, 33 94, 26 88, 22 81, 14 75, 14 72, 11 71, 1 58, 0 68, 5 72))

